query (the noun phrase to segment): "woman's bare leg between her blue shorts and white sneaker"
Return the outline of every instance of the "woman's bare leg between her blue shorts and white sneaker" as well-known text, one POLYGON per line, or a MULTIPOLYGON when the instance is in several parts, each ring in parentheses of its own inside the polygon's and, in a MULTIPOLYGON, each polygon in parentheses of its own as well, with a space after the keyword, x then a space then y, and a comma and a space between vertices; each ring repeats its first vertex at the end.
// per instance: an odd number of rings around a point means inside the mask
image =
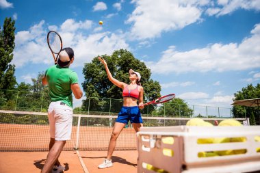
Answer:
POLYGON ((114 149, 116 147, 116 139, 118 138, 119 134, 121 133, 122 129, 124 129, 125 123, 115 122, 114 129, 112 135, 110 137, 109 146, 107 150, 107 159, 111 160, 114 149))

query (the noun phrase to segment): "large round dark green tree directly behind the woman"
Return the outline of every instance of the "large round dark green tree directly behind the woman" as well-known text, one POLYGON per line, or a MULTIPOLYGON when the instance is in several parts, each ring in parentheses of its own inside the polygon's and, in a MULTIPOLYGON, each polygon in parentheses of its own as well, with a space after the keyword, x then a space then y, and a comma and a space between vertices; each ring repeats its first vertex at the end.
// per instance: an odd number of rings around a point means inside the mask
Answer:
MULTIPOLYGON (((119 81, 129 83, 128 72, 130 68, 140 72, 145 101, 152 101, 160 96, 161 86, 159 82, 150 79, 151 70, 146 67, 144 62, 140 62, 139 59, 133 57, 132 53, 125 49, 120 49, 114 51, 111 56, 103 55, 102 57, 107 62, 113 77, 119 81)), ((103 64, 99 62, 98 57, 94 57, 92 62, 85 64, 83 67, 83 75, 85 80, 82 85, 87 97, 122 98, 122 89, 109 81, 105 68, 103 64)), ((97 103, 98 101, 96 101, 96 104, 97 103)), ((88 105, 87 101, 83 101, 83 105, 88 105)))

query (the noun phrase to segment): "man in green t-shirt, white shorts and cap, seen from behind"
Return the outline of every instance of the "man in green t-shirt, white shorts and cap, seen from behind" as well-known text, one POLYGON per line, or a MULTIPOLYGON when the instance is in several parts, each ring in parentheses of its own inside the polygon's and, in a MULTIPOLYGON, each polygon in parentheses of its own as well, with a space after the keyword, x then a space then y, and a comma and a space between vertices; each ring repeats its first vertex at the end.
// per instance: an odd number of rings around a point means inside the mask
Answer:
POLYGON ((71 48, 64 48, 59 54, 57 65, 51 66, 42 78, 43 85, 49 85, 51 104, 48 109, 50 125, 49 154, 42 168, 42 173, 63 172, 65 168, 58 160, 66 140, 70 139, 73 121, 73 96, 79 99, 83 95, 77 73, 69 66, 74 61, 71 48))

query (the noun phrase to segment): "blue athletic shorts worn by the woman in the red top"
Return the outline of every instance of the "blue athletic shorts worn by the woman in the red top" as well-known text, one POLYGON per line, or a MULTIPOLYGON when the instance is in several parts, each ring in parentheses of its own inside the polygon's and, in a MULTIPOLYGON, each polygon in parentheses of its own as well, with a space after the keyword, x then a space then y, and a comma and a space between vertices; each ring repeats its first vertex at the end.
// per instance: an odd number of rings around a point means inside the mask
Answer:
POLYGON ((121 108, 121 111, 118 114, 118 118, 116 118, 116 122, 127 124, 129 120, 131 123, 142 123, 142 117, 138 106, 123 106, 121 108))

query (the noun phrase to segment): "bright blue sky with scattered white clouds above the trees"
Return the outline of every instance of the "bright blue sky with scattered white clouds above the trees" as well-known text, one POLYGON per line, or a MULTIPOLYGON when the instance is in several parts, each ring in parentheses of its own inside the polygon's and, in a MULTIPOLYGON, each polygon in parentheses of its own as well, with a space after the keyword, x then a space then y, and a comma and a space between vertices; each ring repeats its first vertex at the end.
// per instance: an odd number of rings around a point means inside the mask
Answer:
POLYGON ((260 81, 259 0, 0 0, 1 26, 5 17, 16 21, 18 83, 53 64, 49 30, 75 50, 80 83, 84 63, 118 49, 151 68, 161 95, 190 105, 231 107, 235 92, 260 81))

